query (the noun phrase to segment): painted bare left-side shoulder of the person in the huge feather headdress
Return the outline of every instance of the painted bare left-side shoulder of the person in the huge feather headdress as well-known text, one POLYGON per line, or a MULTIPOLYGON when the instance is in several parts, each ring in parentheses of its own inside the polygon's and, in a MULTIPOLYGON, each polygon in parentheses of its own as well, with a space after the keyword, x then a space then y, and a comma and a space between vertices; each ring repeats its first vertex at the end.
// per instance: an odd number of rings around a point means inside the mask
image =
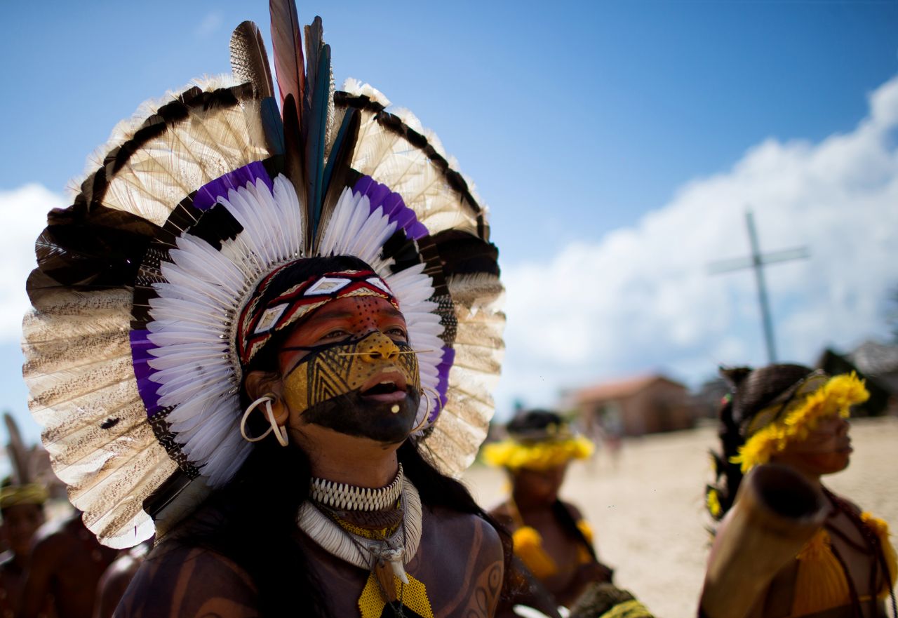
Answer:
POLYGON ((131 580, 116 618, 251 618, 256 588, 239 565, 220 553, 161 543, 131 580))

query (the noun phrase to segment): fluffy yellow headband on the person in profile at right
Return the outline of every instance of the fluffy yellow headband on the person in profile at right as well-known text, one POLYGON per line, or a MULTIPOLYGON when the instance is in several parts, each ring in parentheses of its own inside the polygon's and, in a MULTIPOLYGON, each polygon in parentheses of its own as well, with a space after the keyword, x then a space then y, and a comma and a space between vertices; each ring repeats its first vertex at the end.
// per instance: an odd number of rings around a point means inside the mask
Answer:
POLYGON ((740 464, 743 473, 766 464, 790 442, 804 440, 820 419, 834 414, 847 419, 851 406, 866 402, 868 397, 864 381, 853 372, 832 378, 814 372, 796 391, 788 393, 785 401, 773 402, 753 417, 746 432, 748 439, 730 462, 740 464))

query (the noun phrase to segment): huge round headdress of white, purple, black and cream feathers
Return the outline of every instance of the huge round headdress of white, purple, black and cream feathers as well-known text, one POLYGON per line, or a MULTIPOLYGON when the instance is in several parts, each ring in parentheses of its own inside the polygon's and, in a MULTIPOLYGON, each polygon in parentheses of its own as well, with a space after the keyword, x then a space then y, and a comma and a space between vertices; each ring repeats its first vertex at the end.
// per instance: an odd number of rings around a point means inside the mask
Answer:
POLYGON ((233 78, 145 103, 72 206, 49 213, 28 280, 23 373, 85 524, 128 547, 240 468, 235 316, 274 269, 350 255, 406 317, 426 387, 413 439, 444 472, 486 436, 504 315, 486 213, 436 136, 371 86, 334 92, 321 20, 272 0, 280 106, 258 28, 233 78), (429 401, 427 401, 429 400, 429 401))

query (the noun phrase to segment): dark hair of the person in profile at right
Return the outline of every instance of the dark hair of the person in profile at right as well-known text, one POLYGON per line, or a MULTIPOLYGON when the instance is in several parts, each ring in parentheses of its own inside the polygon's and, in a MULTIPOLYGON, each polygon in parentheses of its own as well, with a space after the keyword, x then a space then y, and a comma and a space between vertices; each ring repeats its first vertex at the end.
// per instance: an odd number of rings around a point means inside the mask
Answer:
POLYGON ((720 425, 720 452, 711 451, 714 459, 715 481, 705 487, 706 495, 717 494, 720 509, 711 513, 719 520, 726 515, 735 500, 736 491, 742 483, 742 470, 730 458, 739 454, 739 447, 745 444, 745 431, 754 416, 774 402, 779 396, 794 391, 813 372, 802 365, 768 365, 758 369, 750 367, 730 367, 720 369, 731 392, 721 403, 718 417, 720 425))

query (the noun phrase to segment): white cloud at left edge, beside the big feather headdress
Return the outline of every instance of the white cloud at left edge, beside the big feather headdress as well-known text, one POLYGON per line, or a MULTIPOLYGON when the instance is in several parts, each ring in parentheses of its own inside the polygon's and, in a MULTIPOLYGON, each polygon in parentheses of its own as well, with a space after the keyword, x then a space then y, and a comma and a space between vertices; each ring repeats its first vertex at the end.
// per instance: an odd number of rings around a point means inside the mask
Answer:
POLYGON ((63 205, 61 196, 38 184, 0 191, 0 342, 22 337, 22 315, 31 306, 25 279, 37 265, 34 241, 47 225, 48 211, 63 205))

